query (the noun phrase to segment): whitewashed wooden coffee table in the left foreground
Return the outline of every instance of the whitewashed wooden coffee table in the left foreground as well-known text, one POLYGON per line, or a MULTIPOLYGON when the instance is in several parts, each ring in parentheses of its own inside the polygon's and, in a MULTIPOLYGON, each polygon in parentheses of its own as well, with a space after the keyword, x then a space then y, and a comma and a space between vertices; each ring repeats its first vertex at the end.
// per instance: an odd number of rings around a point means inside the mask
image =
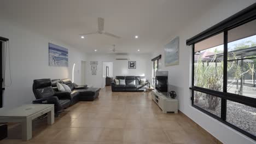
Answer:
POLYGON ((0 109, 0 122, 21 123, 22 140, 32 139, 32 120, 48 115, 48 124, 54 123, 54 104, 27 104, 10 110, 0 109))

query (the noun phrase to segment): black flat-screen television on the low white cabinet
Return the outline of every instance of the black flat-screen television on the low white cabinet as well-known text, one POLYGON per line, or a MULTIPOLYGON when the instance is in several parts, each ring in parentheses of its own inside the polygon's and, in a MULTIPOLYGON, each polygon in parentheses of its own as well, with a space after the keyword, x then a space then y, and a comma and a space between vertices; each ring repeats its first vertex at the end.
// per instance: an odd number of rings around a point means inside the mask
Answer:
POLYGON ((168 71, 155 72, 155 89, 159 93, 167 95, 168 93, 168 71))

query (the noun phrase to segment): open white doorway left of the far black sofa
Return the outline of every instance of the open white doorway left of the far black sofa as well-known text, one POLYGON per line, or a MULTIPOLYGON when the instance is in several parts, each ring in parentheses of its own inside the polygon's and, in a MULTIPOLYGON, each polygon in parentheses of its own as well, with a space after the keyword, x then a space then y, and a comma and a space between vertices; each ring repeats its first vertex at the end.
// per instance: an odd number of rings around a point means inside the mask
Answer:
POLYGON ((113 62, 102 62, 102 88, 111 83, 113 77, 113 62), (107 82, 107 83, 106 83, 107 82))

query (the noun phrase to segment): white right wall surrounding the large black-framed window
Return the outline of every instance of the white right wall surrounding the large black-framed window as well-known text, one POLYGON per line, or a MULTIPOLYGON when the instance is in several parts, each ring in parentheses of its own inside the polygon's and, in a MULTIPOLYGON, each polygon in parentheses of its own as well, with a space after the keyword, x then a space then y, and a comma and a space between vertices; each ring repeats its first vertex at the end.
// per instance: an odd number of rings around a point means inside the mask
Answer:
MULTIPOLYGON (((227 125, 220 123, 216 119, 206 115, 205 113, 195 109, 191 106, 191 92, 189 91, 191 83, 191 46, 185 44, 186 40, 193 37, 194 35, 204 31, 205 29, 217 24, 218 22, 226 19, 227 17, 237 13, 238 11, 248 7, 255 1, 238 1, 238 0, 225 0, 219 3, 216 7, 213 7, 209 11, 205 11, 200 19, 188 22, 187 27, 184 27, 183 31, 178 32, 176 35, 179 36, 179 65, 165 67, 164 65, 164 48, 157 50, 153 56, 162 54, 161 70, 168 70, 169 77, 168 82, 170 83, 170 90, 177 92, 179 99, 179 110, 185 115, 189 116, 197 124, 201 125, 204 129, 210 132, 213 136, 217 137, 218 140, 223 143, 256 143, 249 137, 237 132, 236 130, 228 127, 227 125)), ((192 18, 191 18, 192 19, 192 18)), ((175 35, 175 36, 176 36, 175 35)), ((174 37, 175 37, 174 36, 174 37)), ((173 37, 173 38, 174 38, 173 37)), ((167 44, 171 39, 166 40, 162 47, 167 44)))

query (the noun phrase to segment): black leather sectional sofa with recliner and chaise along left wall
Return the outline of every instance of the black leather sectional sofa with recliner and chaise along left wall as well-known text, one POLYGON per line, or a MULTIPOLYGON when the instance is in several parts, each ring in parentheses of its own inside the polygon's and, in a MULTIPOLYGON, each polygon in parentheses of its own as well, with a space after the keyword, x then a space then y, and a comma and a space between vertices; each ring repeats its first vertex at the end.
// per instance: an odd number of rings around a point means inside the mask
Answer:
POLYGON ((70 79, 39 79, 33 82, 33 93, 36 100, 34 104, 54 104, 55 113, 74 105, 78 101, 93 101, 98 97, 100 88, 87 88, 87 86, 78 86, 72 83, 70 79), (59 92, 57 82, 65 83, 71 92, 59 92))

